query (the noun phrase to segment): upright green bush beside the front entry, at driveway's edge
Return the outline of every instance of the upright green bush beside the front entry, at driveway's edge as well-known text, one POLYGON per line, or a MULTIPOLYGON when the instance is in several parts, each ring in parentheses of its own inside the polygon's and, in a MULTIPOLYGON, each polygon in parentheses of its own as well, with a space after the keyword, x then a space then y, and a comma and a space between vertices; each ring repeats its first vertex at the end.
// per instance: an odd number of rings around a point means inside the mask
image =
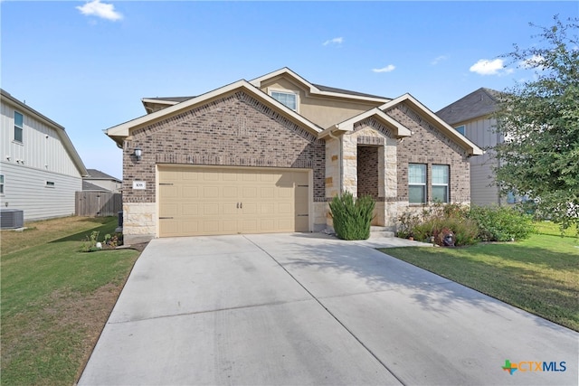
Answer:
POLYGON ((374 207, 374 199, 367 195, 356 200, 349 192, 334 197, 329 203, 329 209, 337 237, 342 240, 368 239, 374 207))

